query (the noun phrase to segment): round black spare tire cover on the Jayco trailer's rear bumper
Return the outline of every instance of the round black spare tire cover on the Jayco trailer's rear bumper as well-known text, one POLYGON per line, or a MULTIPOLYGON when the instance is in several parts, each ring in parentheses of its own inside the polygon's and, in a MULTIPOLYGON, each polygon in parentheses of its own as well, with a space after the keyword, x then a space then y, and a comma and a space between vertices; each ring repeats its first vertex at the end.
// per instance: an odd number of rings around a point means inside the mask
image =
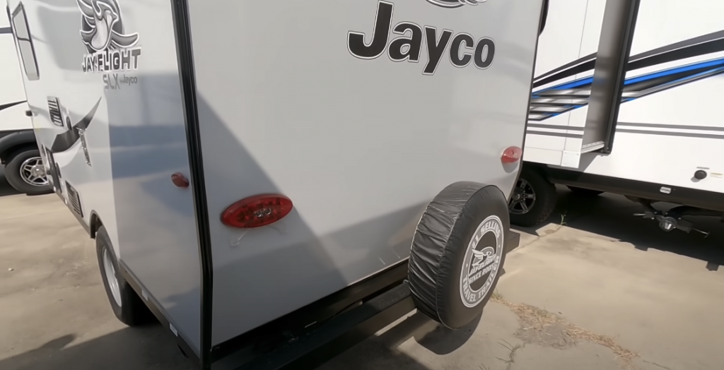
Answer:
POLYGON ((410 254, 418 311, 450 329, 481 314, 500 278, 509 228, 508 203, 497 186, 458 182, 437 194, 410 254))

